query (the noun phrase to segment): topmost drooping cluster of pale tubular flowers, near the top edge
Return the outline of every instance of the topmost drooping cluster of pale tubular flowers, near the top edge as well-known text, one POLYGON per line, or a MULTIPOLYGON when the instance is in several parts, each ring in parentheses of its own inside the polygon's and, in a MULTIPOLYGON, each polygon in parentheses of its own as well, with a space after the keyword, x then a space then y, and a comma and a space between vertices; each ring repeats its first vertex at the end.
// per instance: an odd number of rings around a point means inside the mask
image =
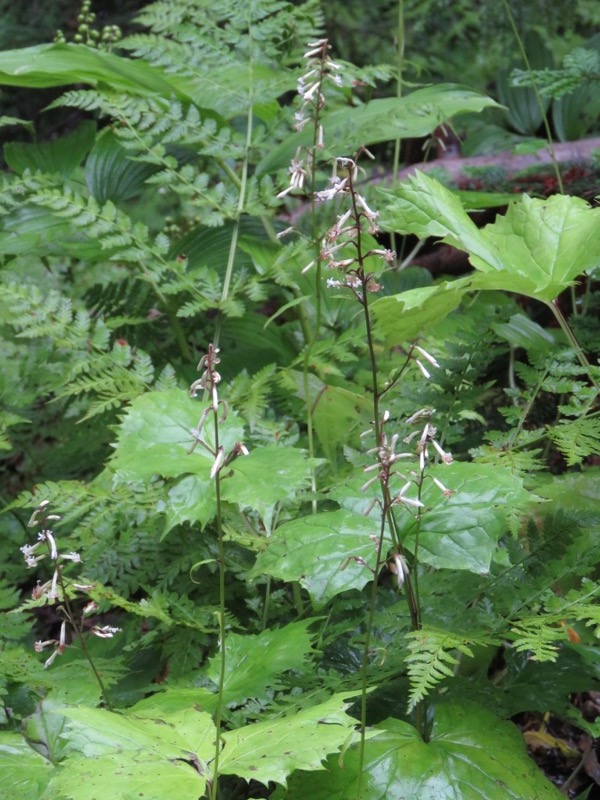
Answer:
POLYGON ((324 147, 323 125, 320 122, 321 111, 325 105, 324 83, 331 81, 336 86, 342 85, 342 80, 337 74, 340 65, 335 64, 329 57, 329 41, 319 39, 316 42, 309 42, 308 48, 304 53, 306 71, 298 79, 300 108, 294 114, 294 127, 301 131, 305 125, 312 122, 315 125, 314 147, 298 148, 288 170, 289 186, 279 192, 278 199, 291 192, 304 190, 306 178, 310 175, 314 165, 315 153, 313 150, 322 150, 324 147))

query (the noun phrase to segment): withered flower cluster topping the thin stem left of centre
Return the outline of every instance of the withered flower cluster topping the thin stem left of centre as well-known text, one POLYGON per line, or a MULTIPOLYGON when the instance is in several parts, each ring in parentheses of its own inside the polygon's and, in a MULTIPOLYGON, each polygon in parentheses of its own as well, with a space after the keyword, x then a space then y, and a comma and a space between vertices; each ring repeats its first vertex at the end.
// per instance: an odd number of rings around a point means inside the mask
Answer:
POLYGON ((197 397, 200 390, 207 392, 210 397, 210 404, 207 405, 202 412, 198 425, 191 431, 191 434, 194 437, 194 442, 188 452, 192 453, 196 449, 197 445, 201 445, 213 456, 214 461, 210 471, 211 479, 218 475, 220 470, 225 465, 231 463, 234 458, 237 458, 240 455, 248 455, 248 448, 243 442, 236 442, 230 452, 225 453, 225 448, 219 443, 217 434, 215 434, 216 441, 214 444, 209 444, 203 438, 202 431, 209 414, 218 414, 220 408, 221 416, 218 419, 218 424, 221 424, 227 419, 227 414, 229 411, 227 403, 225 400, 219 400, 219 395, 217 392, 217 385, 221 382, 221 375, 217 372, 216 367, 220 363, 221 359, 219 358, 219 348, 209 344, 208 352, 206 355, 202 356, 198 363, 198 370, 203 370, 202 375, 190 386, 191 397, 197 397))

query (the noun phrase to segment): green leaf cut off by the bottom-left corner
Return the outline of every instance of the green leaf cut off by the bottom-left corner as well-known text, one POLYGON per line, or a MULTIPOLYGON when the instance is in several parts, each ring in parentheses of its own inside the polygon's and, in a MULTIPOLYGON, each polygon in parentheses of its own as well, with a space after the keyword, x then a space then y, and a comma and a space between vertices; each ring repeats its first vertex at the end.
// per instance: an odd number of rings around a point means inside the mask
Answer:
POLYGON ((22 736, 0 732, 0 795, 19 800, 39 800, 52 777, 49 761, 29 746, 22 736))

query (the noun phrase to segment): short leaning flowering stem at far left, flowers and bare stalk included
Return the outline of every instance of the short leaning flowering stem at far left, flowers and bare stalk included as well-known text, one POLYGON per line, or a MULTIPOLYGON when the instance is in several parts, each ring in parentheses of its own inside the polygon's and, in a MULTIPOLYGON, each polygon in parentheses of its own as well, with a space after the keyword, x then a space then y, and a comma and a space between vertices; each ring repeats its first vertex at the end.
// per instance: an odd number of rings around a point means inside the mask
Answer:
POLYGON ((81 613, 76 611, 73 601, 91 592, 94 585, 77 583, 64 574, 65 565, 69 563, 80 564, 81 556, 73 551, 63 553, 59 549, 51 524, 60 520, 60 517, 57 514, 48 513, 48 506, 49 501, 43 500, 31 515, 28 527, 39 528, 37 542, 23 545, 21 552, 29 569, 35 569, 40 562, 49 559, 52 565, 52 578, 45 583, 38 581, 32 592, 32 597, 39 603, 55 605, 57 612, 63 619, 58 638, 37 641, 35 650, 38 653, 52 650, 50 656, 44 662, 44 667, 47 669, 52 666, 56 658, 61 656, 68 647, 67 627, 70 626, 75 632, 81 650, 98 682, 104 705, 108 709, 112 709, 106 685, 89 652, 87 638, 88 636, 97 636, 100 639, 112 639, 120 631, 120 628, 89 623, 89 617, 98 611, 98 605, 93 600, 87 600, 81 613))

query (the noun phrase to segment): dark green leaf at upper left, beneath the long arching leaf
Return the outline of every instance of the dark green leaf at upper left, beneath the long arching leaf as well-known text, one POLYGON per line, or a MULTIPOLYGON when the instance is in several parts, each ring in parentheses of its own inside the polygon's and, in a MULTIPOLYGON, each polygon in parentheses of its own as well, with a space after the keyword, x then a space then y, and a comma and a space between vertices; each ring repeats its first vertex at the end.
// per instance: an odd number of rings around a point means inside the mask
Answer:
POLYGON ((67 178, 83 161, 96 137, 96 123, 89 120, 60 139, 48 142, 8 142, 4 157, 8 166, 19 175, 31 172, 60 173, 67 178))

